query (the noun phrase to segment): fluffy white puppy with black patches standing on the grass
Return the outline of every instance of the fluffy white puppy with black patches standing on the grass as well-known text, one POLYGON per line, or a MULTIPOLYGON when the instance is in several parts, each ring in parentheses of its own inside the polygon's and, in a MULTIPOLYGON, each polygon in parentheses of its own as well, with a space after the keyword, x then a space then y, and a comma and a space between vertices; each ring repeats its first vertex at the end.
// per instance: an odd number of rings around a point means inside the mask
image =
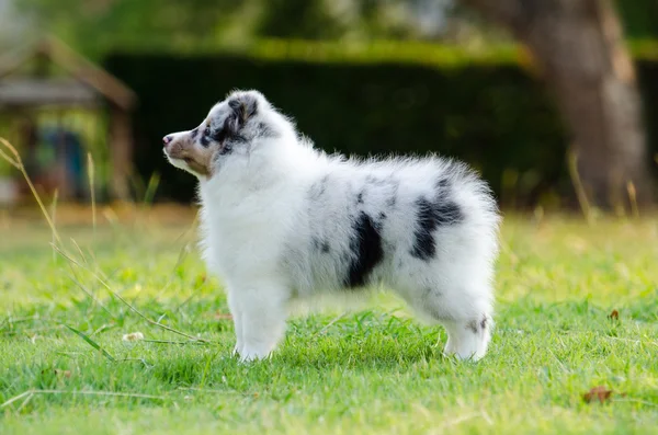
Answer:
POLYGON ((226 286, 242 360, 272 353, 291 302, 377 285, 445 327, 446 355, 487 352, 500 219, 464 164, 328 156, 258 91, 163 141, 198 179, 204 260, 226 286))

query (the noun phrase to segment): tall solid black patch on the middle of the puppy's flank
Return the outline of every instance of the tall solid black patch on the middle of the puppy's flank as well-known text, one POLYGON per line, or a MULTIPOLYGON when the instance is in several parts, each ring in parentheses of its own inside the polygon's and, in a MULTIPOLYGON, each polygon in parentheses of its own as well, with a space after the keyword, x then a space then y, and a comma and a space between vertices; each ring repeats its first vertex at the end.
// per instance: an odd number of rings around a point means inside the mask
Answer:
POLYGON ((350 240, 352 251, 347 286, 361 287, 365 285, 373 268, 384 257, 382 236, 373 219, 364 211, 359 214, 350 240))

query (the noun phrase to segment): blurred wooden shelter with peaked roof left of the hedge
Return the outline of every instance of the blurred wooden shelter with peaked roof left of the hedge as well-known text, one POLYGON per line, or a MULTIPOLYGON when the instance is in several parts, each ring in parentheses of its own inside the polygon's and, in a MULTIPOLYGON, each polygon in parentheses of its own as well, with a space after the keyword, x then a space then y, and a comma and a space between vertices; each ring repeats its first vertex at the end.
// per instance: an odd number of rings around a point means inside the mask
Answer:
POLYGON ((109 151, 103 153, 110 159, 104 184, 116 199, 129 198, 131 112, 136 101, 134 92, 120 80, 53 37, 0 57, 1 116, 24 116, 42 107, 103 116, 103 144, 109 151))

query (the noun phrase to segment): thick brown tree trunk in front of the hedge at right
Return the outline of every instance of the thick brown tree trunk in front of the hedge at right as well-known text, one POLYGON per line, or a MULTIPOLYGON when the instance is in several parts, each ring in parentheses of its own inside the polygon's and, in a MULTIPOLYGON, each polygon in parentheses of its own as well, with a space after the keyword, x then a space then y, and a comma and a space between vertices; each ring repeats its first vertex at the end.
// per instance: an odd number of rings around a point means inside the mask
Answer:
POLYGON ((588 197, 602 208, 651 201, 642 102, 610 0, 463 0, 533 54, 574 137, 588 197))

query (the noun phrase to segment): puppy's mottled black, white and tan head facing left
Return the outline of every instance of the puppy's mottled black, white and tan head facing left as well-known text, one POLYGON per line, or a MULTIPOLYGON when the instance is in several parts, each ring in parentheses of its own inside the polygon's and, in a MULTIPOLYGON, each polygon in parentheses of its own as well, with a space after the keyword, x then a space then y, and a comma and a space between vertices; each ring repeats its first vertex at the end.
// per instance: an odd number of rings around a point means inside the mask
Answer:
POLYGON ((254 140, 281 135, 285 125, 260 92, 235 91, 196 128, 164 136, 164 154, 174 167, 207 180, 225 161, 248 156, 254 140))

